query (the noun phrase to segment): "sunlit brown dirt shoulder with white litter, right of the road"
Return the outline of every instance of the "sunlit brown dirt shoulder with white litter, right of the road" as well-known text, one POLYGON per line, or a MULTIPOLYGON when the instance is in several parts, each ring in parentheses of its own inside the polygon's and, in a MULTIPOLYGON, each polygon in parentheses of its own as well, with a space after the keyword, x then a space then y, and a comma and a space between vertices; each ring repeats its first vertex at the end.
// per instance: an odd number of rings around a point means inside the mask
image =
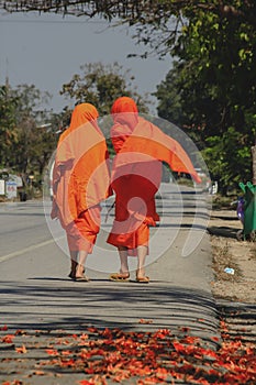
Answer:
POLYGON ((256 304, 256 242, 238 241, 236 210, 212 210, 208 226, 213 253, 212 293, 216 299, 256 304), (231 267, 234 274, 225 273, 231 267))

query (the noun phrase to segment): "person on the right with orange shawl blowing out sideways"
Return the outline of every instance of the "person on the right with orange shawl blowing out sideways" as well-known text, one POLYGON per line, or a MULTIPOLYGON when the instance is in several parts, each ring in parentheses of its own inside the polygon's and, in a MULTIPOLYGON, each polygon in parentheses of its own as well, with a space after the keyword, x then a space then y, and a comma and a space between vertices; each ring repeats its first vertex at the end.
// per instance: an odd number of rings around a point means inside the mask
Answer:
POLYGON ((174 139, 138 116, 136 103, 121 97, 112 106, 111 140, 116 152, 113 161, 111 187, 115 193, 115 219, 107 242, 116 246, 121 267, 111 280, 130 278, 127 256, 137 256, 136 280, 148 283, 145 260, 148 254, 149 227, 159 217, 155 194, 162 180, 162 162, 174 172, 187 173, 201 183, 193 165, 174 139))

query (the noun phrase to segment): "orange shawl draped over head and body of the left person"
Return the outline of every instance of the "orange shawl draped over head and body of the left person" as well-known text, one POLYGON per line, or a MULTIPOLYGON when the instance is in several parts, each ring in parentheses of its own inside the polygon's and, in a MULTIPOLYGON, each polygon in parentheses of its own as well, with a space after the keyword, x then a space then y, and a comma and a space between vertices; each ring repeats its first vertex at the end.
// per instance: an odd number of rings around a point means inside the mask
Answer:
POLYGON ((98 116, 90 103, 76 106, 69 128, 59 138, 53 185, 65 226, 111 194, 109 153, 98 116))

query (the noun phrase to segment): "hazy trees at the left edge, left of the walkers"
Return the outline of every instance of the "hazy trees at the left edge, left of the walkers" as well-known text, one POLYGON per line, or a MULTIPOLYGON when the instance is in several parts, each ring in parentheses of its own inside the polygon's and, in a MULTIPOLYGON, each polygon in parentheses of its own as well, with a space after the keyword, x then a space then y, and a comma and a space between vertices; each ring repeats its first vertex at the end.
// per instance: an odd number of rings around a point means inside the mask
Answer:
POLYGON ((56 146, 56 116, 42 109, 47 94, 34 86, 0 88, 0 165, 18 174, 42 177, 56 146))

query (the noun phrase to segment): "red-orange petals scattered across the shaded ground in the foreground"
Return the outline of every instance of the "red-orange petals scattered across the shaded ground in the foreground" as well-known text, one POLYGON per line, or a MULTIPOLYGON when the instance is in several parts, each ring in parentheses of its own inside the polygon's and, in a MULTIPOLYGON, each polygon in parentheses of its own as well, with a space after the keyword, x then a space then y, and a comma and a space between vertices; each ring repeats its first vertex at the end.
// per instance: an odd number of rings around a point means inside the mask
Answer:
MULTIPOLYGON (((58 375, 85 373, 80 385, 107 385, 132 381, 137 385, 151 384, 247 384, 256 383, 255 344, 242 340, 230 340, 229 328, 221 321, 222 344, 219 350, 205 345, 205 341, 190 336, 188 328, 181 328, 182 334, 174 336, 170 330, 156 332, 124 332, 120 329, 88 328, 82 333, 69 334, 62 331, 59 336, 51 336, 36 331, 18 331, 1 337, 2 348, 7 348, 9 356, 2 365, 19 360, 10 355, 10 343, 16 338, 26 339, 26 345, 11 345, 14 352, 27 353, 33 349, 45 354, 38 360, 31 375, 49 375, 51 371, 58 375), (34 342, 30 345, 30 337, 37 340, 47 337, 47 345, 34 342)), ((8 328, 2 327, 2 332, 8 328)), ((218 341, 218 338, 213 338, 218 341)), ((45 341, 45 340, 44 340, 45 341)), ((218 341, 220 343, 220 341, 218 341)), ((53 375, 53 374, 52 374, 53 375)), ((2 385, 22 384, 15 380, 2 385)))

